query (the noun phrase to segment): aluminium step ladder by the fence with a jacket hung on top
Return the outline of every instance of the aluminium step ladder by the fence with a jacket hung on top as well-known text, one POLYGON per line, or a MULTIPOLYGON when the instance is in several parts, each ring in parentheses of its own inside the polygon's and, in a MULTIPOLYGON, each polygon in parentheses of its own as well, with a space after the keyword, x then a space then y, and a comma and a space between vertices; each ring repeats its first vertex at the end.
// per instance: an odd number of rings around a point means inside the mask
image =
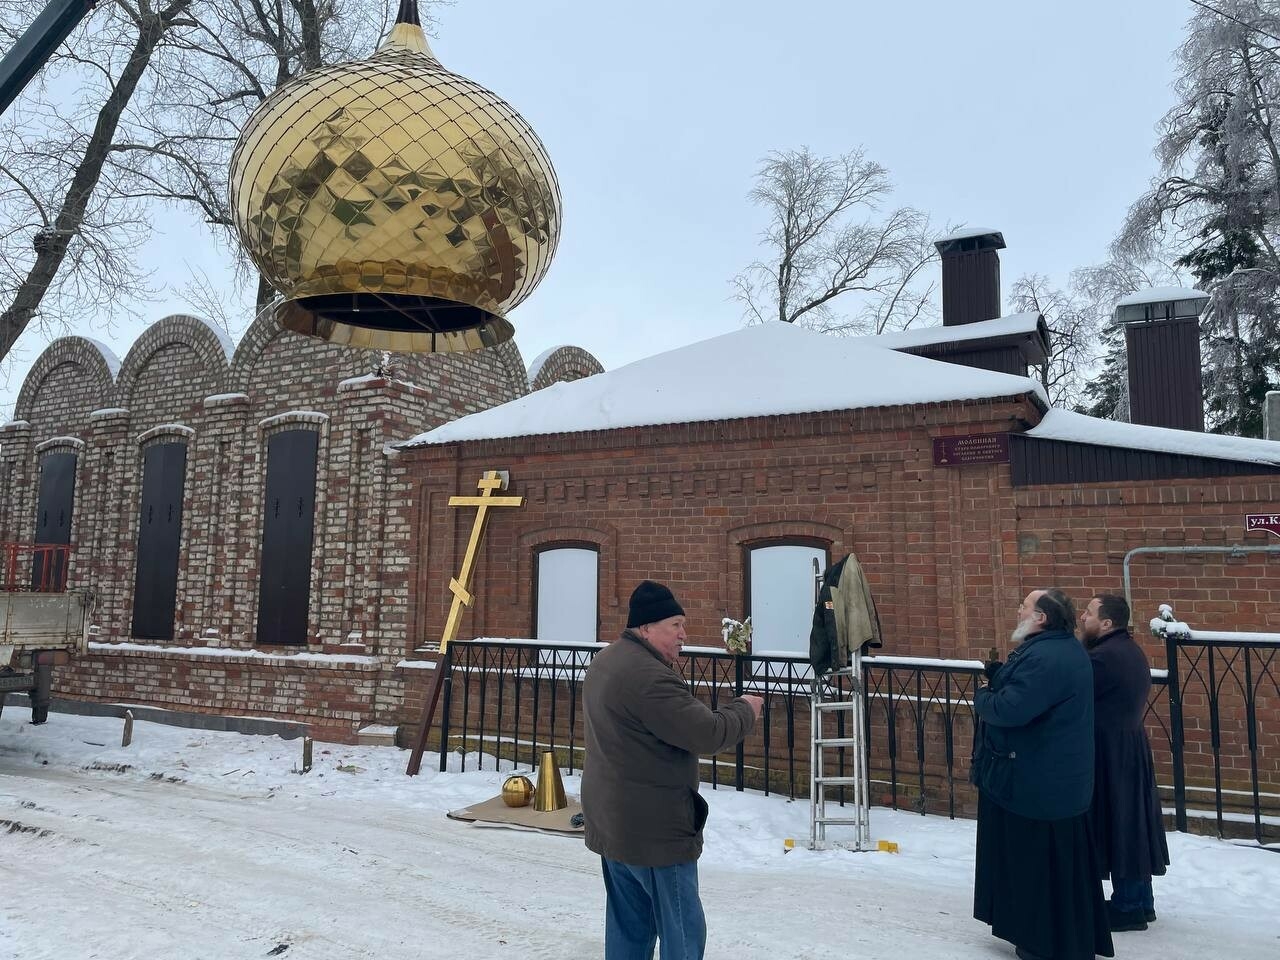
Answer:
POLYGON ((870 783, 861 657, 813 681, 809 700, 809 849, 869 850, 870 783), (832 791, 835 796, 828 796, 832 791), (844 800, 841 804, 840 801, 844 800), (831 813, 828 813, 828 806, 831 813), (827 827, 850 827, 828 840, 827 827))

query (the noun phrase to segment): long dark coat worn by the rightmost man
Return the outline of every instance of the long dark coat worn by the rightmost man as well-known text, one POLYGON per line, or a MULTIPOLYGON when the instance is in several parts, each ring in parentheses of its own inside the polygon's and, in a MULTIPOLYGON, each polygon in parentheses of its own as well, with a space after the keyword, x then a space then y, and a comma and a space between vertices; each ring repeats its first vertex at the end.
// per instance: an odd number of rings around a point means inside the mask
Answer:
POLYGON ((1169 846, 1143 717, 1151 695, 1147 654, 1128 630, 1089 646, 1093 663, 1093 837, 1102 876, 1147 881, 1165 873, 1169 846))

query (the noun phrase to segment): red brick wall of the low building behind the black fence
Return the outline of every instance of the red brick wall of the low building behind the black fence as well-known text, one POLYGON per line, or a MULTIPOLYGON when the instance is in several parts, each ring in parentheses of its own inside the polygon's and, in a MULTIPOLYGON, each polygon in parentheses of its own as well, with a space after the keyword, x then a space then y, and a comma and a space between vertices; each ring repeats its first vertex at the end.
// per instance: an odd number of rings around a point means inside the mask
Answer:
MULTIPOLYGON (((1015 489, 1007 465, 933 466, 936 436, 1020 429, 1037 417, 1025 401, 1005 399, 407 449, 397 468, 415 479, 410 635, 440 635, 445 585, 470 535, 472 513, 448 509, 445 499, 493 468, 511 471, 509 493, 526 504, 493 513, 461 636, 530 636, 534 554, 556 541, 599 549, 603 639, 623 626, 635 584, 654 577, 684 604, 690 643, 718 645, 719 620, 749 612, 746 548, 803 538, 828 544, 833 558, 859 557, 884 628, 882 653, 975 659, 992 646, 1007 654, 1018 604, 1036 588, 1062 586, 1082 608, 1094 591, 1120 593, 1125 554, 1137 547, 1266 545, 1263 534, 1244 532, 1244 515, 1274 511, 1277 477, 1015 489)), ((1274 554, 1139 556, 1132 575, 1135 635, 1153 666, 1165 654, 1146 623, 1161 603, 1206 630, 1280 628, 1274 554)), ((406 723, 417 721, 430 680, 412 673, 397 713, 406 723)), ((1280 696, 1262 692, 1260 774, 1275 791, 1280 696)), ((1240 788, 1251 758, 1243 701, 1231 696, 1221 694, 1230 741, 1222 776, 1240 788)), ((1213 777, 1204 704, 1189 694, 1188 777, 1201 786, 1213 777)), ((966 759, 968 744, 959 749, 966 759)), ((937 794, 940 782, 925 792, 937 794)))

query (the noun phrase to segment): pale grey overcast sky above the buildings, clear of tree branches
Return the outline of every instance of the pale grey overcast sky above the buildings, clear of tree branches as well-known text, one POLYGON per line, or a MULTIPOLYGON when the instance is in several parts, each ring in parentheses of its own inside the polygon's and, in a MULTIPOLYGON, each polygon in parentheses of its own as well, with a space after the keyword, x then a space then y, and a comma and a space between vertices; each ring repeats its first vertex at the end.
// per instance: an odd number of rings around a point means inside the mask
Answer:
MULTIPOLYGON (((742 323, 730 280, 758 256, 760 157, 858 146, 893 202, 1001 229, 1005 289, 1097 262, 1156 172, 1187 0, 457 0, 431 38, 448 68, 538 131, 564 202, 559 252, 512 314, 529 362, 573 343, 605 367, 742 323)), ((195 221, 159 214, 142 320, 76 333, 120 357, 189 312, 191 269, 230 284, 195 221)), ((19 342, 0 415, 45 340, 19 342)))

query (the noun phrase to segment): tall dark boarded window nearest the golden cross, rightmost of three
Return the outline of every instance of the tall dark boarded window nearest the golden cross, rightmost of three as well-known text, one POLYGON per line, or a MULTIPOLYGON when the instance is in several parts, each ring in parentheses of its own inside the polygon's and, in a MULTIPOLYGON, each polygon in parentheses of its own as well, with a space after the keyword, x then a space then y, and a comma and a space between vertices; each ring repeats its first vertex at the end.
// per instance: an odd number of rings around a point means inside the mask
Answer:
POLYGON ((285 430, 266 444, 260 644, 307 641, 319 440, 315 430, 285 430))

